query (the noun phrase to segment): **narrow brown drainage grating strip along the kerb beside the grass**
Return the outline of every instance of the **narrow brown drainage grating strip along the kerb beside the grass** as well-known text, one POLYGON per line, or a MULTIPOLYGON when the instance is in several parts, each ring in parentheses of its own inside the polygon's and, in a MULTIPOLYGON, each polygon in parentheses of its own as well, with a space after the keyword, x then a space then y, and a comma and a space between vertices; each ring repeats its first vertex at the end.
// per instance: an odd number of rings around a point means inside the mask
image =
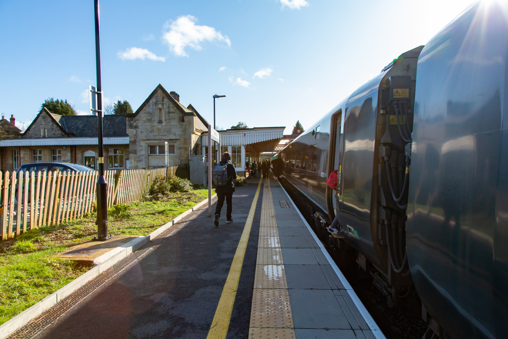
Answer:
MULTIPOLYGON (((215 200, 215 199, 214 199, 215 200)), ((212 200, 213 201, 213 200, 212 200)), ((201 211, 202 212, 202 211, 201 211)), ((186 217, 182 218, 177 224, 183 224, 196 217, 200 211, 189 213, 186 217)), ((183 227, 184 225, 180 225, 183 227)), ((140 259, 143 255, 156 249, 164 241, 164 238, 171 235, 173 232, 179 230, 179 227, 171 227, 166 231, 159 234, 155 239, 149 243, 148 248, 136 251, 131 255, 120 260, 113 266, 111 266, 104 273, 99 274, 96 278, 93 278, 88 283, 71 293, 69 296, 63 298, 61 301, 56 303, 50 309, 44 311, 38 317, 29 321, 26 325, 22 326, 7 339, 29 339, 35 337, 39 332, 44 330, 46 327, 54 324, 58 318, 63 316, 67 311, 76 306, 80 301, 86 298, 90 293, 100 288, 102 285, 113 279, 118 273, 128 268, 131 264, 140 259)))

